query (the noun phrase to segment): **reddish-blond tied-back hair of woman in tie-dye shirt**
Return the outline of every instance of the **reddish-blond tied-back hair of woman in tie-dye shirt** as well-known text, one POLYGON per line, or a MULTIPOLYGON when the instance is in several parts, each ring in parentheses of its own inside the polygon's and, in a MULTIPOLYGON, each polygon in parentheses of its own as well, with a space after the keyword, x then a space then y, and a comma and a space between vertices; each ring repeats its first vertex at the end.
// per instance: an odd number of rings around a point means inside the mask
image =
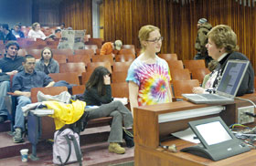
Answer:
POLYGON ((145 50, 145 47, 142 44, 142 42, 146 41, 149 38, 149 34, 155 30, 158 30, 160 32, 160 29, 156 26, 147 25, 147 26, 141 27, 141 29, 139 31, 139 39, 140 39, 141 46, 142 46, 141 53, 144 53, 144 50, 145 50))

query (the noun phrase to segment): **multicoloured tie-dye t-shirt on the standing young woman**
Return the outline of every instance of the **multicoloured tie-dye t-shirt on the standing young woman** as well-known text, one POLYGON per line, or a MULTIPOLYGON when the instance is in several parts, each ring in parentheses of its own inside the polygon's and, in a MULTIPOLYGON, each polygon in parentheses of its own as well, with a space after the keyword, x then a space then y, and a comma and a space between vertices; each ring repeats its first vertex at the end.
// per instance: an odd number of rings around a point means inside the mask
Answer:
POLYGON ((126 81, 139 87, 138 105, 169 102, 167 87, 171 80, 167 62, 157 57, 155 64, 146 64, 136 58, 128 70, 126 81))

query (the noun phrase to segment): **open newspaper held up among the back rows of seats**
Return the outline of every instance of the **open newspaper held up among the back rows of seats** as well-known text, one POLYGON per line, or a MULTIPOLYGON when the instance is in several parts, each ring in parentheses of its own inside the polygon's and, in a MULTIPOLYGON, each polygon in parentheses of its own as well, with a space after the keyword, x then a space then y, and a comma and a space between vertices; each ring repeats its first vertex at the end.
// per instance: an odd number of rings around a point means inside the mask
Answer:
POLYGON ((58 49, 84 49, 86 30, 62 30, 58 49))

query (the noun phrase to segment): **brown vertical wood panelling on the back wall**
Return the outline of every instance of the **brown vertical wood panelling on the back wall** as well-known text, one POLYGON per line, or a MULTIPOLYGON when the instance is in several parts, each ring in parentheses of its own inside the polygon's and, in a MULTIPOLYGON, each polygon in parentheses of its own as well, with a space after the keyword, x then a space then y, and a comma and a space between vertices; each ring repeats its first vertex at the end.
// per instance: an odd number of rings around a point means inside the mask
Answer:
MULTIPOLYGON (((76 3, 91 4, 90 0, 64 0, 62 4, 76 3)), ((90 6, 83 6, 80 10, 74 8, 71 11, 70 5, 64 6, 69 12, 60 12, 63 22, 91 29, 91 21, 84 19, 84 15, 89 15, 90 6), (87 22, 78 25, 81 21, 87 22)), ((238 36, 240 52, 250 58, 255 68, 256 6, 243 6, 235 0, 194 0, 185 5, 172 0, 103 0, 103 7, 105 41, 121 39, 124 44, 140 47, 138 31, 141 26, 151 24, 158 26, 164 36, 162 53, 176 53, 182 60, 192 59, 196 54, 197 20, 206 17, 212 26, 226 24, 232 27, 238 36)))

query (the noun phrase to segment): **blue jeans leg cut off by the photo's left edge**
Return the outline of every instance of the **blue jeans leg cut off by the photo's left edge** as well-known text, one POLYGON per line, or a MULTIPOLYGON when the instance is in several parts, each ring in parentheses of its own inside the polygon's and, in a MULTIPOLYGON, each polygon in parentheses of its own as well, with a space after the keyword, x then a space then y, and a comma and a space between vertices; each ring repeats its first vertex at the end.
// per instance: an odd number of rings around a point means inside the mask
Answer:
POLYGON ((0 82, 0 116, 8 115, 8 109, 5 106, 5 96, 10 91, 10 81, 0 82))

